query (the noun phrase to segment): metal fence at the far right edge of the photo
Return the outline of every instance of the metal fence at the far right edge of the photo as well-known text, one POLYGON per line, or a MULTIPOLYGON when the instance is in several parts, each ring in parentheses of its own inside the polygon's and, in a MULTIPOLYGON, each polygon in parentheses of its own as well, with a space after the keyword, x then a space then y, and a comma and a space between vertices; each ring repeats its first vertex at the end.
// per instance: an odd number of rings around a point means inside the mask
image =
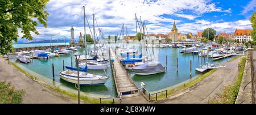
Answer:
POLYGON ((251 103, 255 104, 256 102, 256 95, 255 95, 255 90, 256 90, 256 70, 255 70, 255 65, 254 65, 254 51, 251 51, 251 103))

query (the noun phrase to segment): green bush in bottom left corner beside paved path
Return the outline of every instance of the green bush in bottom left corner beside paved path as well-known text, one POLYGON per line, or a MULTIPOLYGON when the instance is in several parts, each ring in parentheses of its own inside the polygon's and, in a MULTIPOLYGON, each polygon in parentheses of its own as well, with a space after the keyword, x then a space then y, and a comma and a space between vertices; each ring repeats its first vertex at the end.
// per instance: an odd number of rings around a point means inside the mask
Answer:
POLYGON ((20 104, 24 93, 24 90, 15 90, 11 83, 0 82, 0 104, 20 104))

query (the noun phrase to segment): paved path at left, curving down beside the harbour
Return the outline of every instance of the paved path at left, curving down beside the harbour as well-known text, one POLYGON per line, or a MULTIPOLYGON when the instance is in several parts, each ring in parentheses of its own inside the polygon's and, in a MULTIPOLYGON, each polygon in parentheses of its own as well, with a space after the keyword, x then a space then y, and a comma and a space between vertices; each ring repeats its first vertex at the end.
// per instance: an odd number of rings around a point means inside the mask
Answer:
POLYGON ((0 57, 0 80, 11 82, 16 90, 25 90, 23 103, 77 103, 77 100, 61 93, 49 90, 24 75, 0 57))

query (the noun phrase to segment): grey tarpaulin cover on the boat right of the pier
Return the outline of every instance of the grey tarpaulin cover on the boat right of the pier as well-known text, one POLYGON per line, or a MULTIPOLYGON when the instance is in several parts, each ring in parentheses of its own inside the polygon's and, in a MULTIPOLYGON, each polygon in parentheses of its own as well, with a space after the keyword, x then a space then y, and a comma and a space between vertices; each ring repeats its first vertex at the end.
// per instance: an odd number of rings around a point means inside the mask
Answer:
POLYGON ((133 71, 136 73, 158 73, 164 71, 164 67, 158 61, 143 63, 140 66, 133 67, 133 71))

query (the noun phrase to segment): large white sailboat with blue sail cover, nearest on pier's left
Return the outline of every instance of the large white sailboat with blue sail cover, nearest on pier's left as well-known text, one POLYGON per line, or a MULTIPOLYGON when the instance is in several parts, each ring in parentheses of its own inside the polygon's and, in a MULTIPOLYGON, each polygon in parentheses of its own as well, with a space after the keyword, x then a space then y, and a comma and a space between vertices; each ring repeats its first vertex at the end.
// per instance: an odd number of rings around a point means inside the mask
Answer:
MULTIPOLYGON (((60 73, 60 79, 63 79, 70 83, 78 83, 78 74, 77 70, 74 67, 68 67, 66 66, 65 71, 62 71, 60 73)), ((94 75, 87 73, 87 66, 85 66, 83 69, 79 69, 79 83, 80 85, 98 85, 98 84, 104 84, 108 81, 108 76, 101 76, 101 75, 94 75)))

